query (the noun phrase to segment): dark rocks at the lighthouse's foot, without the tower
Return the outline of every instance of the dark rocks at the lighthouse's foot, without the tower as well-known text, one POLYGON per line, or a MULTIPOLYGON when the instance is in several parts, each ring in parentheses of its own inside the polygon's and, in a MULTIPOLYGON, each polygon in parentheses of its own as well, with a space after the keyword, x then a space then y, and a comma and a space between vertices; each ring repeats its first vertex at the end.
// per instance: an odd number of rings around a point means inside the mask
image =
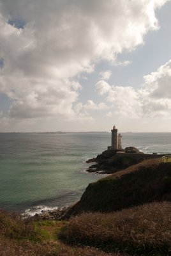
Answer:
POLYGON ((124 150, 105 150, 102 154, 93 159, 89 159, 86 162, 94 163, 89 166, 87 172, 98 174, 114 173, 142 161, 142 154, 143 153, 135 147, 127 147, 124 150), (130 156, 127 156, 126 154, 117 156, 117 152, 130 153, 130 156), (134 157, 134 154, 139 154, 139 157, 134 157))

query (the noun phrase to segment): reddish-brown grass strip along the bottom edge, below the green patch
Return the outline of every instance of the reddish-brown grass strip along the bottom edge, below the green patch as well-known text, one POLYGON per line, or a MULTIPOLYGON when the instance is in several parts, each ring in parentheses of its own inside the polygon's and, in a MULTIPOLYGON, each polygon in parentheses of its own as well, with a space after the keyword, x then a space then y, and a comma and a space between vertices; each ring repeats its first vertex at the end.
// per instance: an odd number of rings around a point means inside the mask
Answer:
POLYGON ((11 241, 0 237, 1 256, 126 256, 123 253, 105 253, 97 248, 67 246, 59 243, 34 244, 31 241, 11 241))

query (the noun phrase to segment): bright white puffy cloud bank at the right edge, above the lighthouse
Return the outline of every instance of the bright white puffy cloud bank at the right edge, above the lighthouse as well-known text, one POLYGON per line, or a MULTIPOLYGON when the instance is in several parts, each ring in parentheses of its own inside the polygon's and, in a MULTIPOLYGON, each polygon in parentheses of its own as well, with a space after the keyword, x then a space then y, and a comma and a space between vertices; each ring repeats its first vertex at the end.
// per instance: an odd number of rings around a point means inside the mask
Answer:
MULTIPOLYGON (((140 89, 131 86, 110 86, 105 81, 96 84, 96 92, 105 96, 110 109, 130 118, 168 117, 171 113, 171 60, 148 76, 140 89)), ((109 107, 108 107, 109 108, 109 107)), ((108 116, 111 115, 108 112, 108 116)))

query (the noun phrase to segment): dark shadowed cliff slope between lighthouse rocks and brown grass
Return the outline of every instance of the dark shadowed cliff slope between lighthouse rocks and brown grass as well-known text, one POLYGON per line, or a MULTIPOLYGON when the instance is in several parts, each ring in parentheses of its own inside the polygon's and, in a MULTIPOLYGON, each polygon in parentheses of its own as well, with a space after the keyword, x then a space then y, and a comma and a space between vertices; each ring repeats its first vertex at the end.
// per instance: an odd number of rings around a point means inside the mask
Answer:
POLYGON ((111 212, 154 201, 171 201, 171 163, 144 160, 89 184, 77 204, 65 214, 111 212))

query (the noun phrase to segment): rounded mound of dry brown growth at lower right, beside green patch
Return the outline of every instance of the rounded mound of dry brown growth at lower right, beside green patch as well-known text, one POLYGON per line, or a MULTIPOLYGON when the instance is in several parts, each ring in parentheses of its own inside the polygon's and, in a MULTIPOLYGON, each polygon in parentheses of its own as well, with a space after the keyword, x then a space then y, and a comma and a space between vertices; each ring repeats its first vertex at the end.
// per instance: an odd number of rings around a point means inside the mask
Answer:
POLYGON ((153 203, 110 214, 82 214, 72 218, 60 234, 71 244, 131 255, 169 255, 171 203, 153 203))

